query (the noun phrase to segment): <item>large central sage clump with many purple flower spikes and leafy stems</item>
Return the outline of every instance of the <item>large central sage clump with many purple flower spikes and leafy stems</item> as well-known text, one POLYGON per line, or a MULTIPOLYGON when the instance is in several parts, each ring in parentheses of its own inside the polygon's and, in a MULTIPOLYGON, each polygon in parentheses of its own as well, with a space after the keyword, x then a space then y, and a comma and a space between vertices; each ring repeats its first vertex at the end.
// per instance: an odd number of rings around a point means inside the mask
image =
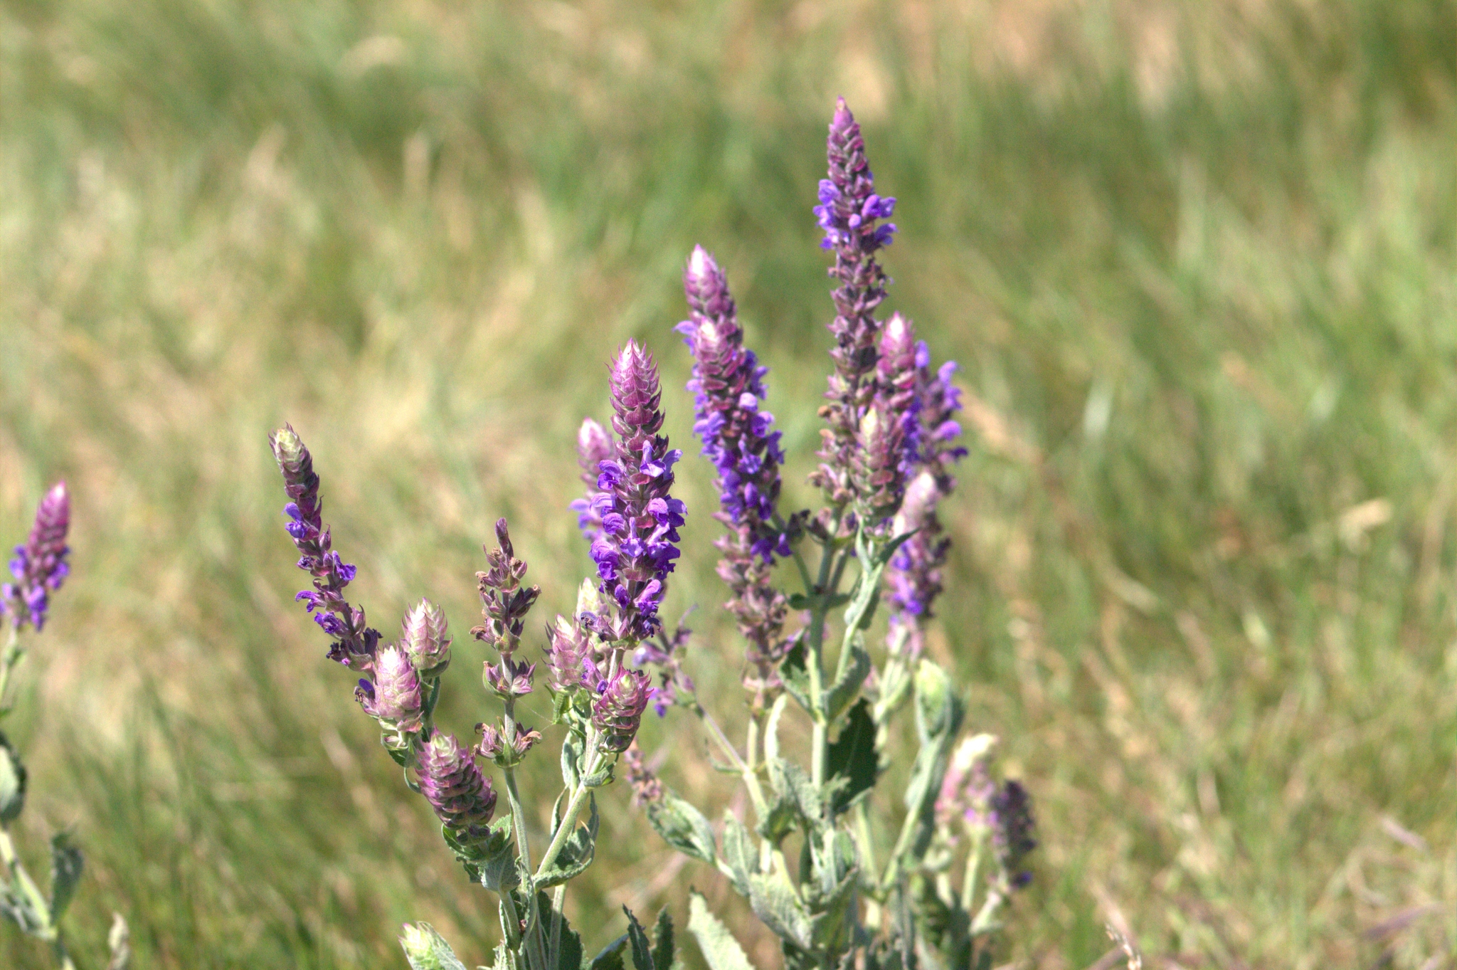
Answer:
MULTIPOLYGON (((814 207, 822 245, 835 256, 833 370, 810 479, 823 494, 819 510, 781 508, 785 454, 765 409, 768 368, 745 345, 724 271, 698 246, 683 272, 688 319, 678 331, 694 361, 694 433, 714 469, 718 574, 745 639, 743 744, 699 702, 688 673, 691 631, 669 631, 660 616, 686 508, 673 495, 680 452, 663 434, 663 389, 643 345, 628 341, 610 364, 610 421, 581 424, 586 494, 573 510, 594 568, 571 615, 546 623, 542 647, 523 642, 539 588, 525 584, 527 565, 506 520, 495 526, 488 568, 476 574, 482 623, 471 635, 491 651, 482 682, 501 714, 476 725, 475 744, 436 725, 440 674, 452 660, 444 613, 423 600, 395 642, 369 626, 363 607, 345 599, 356 569, 332 548, 309 450, 291 427, 271 438, 290 498, 287 530, 299 568, 312 577, 299 600, 329 635, 329 658, 357 676, 360 706, 434 810, 446 843, 498 896, 497 970, 673 964, 666 910, 653 938, 628 913, 628 932, 592 958, 564 915, 565 883, 593 861, 596 792, 619 763, 634 804, 672 846, 747 897, 791 969, 989 967, 1000 916, 1030 878, 1027 791, 997 778, 995 738, 957 740, 965 706, 925 655, 950 548, 937 510, 965 454, 956 443, 956 366, 934 367, 911 320, 879 312, 889 283, 879 252, 896 232, 886 221, 895 200, 876 192, 844 100, 828 160, 814 207), (798 588, 781 588, 785 574, 798 588), (881 603, 886 636, 871 644, 881 603), (533 840, 516 769, 543 743, 546 725, 522 721, 517 702, 542 686, 561 728, 546 730, 561 740, 562 791, 551 830, 533 840), (726 811, 714 826, 647 768, 634 738, 648 706, 702 719, 752 817, 726 811), (873 797, 908 709, 919 747, 905 810, 887 819, 873 797), (781 744, 787 719, 810 725, 807 765, 781 744)), ((714 970, 749 967, 701 896, 689 912, 714 970)), ((415 970, 462 967, 428 925, 407 926, 401 942, 415 970)))

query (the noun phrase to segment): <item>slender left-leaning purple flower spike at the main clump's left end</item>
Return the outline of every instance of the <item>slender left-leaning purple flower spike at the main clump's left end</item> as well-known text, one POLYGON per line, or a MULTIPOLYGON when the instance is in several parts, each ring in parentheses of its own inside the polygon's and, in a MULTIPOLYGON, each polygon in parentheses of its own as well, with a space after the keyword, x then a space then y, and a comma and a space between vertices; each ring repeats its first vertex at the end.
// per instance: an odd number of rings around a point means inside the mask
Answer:
POLYGON ((367 670, 379 647, 379 631, 366 625, 363 609, 350 606, 344 599, 344 587, 354 580, 354 567, 331 549, 313 457, 290 425, 275 431, 268 441, 291 500, 283 508, 290 520, 284 527, 299 548, 299 568, 313 575, 313 590, 305 590, 294 599, 302 600, 315 615, 313 622, 334 638, 329 660, 367 670))

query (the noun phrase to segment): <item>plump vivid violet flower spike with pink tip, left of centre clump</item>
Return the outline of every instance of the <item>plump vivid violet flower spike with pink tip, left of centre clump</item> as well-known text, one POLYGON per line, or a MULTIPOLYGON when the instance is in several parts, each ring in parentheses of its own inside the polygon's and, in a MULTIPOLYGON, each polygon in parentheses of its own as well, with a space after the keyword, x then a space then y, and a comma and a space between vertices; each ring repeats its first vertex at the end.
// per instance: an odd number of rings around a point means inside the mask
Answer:
POLYGON ((628 341, 612 363, 612 428, 616 450, 602 462, 594 508, 602 532, 592 543, 599 590, 612 597, 615 615, 593 616, 593 629, 612 641, 643 641, 661 628, 657 609, 667 574, 678 559, 678 527, 683 502, 673 498, 673 465, 682 452, 669 449, 663 427, 661 389, 651 354, 628 341))

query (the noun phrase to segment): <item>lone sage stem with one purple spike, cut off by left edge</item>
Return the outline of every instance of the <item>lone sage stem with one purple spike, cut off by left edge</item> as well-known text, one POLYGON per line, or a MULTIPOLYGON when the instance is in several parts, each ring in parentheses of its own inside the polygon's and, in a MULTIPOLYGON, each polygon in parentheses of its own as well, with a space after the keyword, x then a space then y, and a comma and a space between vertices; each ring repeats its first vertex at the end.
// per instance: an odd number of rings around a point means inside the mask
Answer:
MULTIPOLYGON (((12 581, 0 585, 0 618, 6 620, 6 642, 0 650, 0 721, 10 715, 10 680, 26 654, 23 634, 31 628, 39 634, 45 626, 51 594, 70 575, 70 546, 66 545, 71 524, 71 501, 66 482, 57 482, 35 510, 35 523, 26 540, 15 548, 10 559, 12 581)), ((85 859, 71 845, 70 835, 60 832, 51 837, 51 890, 45 893, 29 874, 16 851, 10 827, 25 808, 26 770, 10 738, 0 731, 0 915, 10 919, 26 935, 50 944, 51 955, 63 970, 74 970, 76 963, 66 947, 61 918, 66 915, 80 884, 85 859)), ((131 955, 127 922, 112 916, 108 937, 111 961, 108 970, 122 970, 131 955)))

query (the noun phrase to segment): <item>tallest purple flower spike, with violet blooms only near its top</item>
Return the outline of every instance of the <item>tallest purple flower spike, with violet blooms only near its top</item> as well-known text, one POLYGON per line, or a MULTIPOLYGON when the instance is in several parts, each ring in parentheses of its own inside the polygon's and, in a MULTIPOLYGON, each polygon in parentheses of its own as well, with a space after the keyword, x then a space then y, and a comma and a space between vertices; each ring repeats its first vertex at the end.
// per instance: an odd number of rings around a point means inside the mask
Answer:
POLYGON ((876 194, 865 141, 844 98, 835 105, 826 157, 829 178, 820 182, 814 217, 825 230, 825 249, 835 251, 829 275, 839 285, 832 294, 835 319, 829 325, 835 336, 830 351, 835 373, 825 393, 829 403, 822 409, 829 428, 822 431, 820 466, 812 482, 825 489, 830 504, 842 507, 855 498, 851 465, 860 425, 876 390, 876 344, 881 326, 876 307, 886 299, 889 283, 876 251, 890 245, 896 230, 895 224, 877 224, 877 220, 887 218, 896 201, 876 194))

